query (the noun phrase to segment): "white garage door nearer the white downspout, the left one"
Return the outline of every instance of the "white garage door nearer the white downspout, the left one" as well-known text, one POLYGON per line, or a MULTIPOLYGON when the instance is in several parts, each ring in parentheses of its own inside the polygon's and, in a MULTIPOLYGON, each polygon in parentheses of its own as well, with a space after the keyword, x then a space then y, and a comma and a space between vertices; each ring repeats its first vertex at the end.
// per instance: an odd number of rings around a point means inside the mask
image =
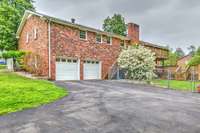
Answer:
POLYGON ((56 59, 56 80, 80 80, 77 59, 56 59))

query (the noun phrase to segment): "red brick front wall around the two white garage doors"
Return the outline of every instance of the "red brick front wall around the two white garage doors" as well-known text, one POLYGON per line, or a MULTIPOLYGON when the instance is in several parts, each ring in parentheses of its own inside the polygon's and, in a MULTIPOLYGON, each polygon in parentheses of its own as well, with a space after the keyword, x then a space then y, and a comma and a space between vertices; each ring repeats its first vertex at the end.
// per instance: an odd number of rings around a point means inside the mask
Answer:
POLYGON ((84 59, 99 60, 102 63, 102 78, 105 79, 120 53, 120 40, 113 38, 112 45, 98 44, 93 32, 87 32, 87 40, 80 40, 78 29, 54 23, 51 25, 51 53, 52 79, 55 79, 55 59, 58 56, 79 58, 81 79, 84 59))

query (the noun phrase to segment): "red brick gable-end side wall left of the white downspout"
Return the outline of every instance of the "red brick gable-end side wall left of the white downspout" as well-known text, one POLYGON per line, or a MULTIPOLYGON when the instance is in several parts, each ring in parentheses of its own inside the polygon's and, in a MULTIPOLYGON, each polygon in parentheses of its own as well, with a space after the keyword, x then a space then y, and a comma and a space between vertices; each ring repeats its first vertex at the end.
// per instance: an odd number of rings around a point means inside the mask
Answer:
POLYGON ((48 24, 37 16, 31 16, 26 21, 18 40, 19 50, 31 52, 27 61, 29 71, 48 76, 48 24), (38 30, 37 39, 34 39, 34 28, 38 30), (29 42, 26 43, 26 34, 29 33, 29 42), (35 63, 37 66, 35 66, 35 63))

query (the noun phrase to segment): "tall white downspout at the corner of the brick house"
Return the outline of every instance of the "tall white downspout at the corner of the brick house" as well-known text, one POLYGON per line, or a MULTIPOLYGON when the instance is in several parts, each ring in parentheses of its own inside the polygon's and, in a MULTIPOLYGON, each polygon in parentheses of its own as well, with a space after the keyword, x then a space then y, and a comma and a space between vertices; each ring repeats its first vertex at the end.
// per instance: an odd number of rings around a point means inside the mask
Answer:
POLYGON ((51 79, 51 20, 48 21, 49 79, 51 79))

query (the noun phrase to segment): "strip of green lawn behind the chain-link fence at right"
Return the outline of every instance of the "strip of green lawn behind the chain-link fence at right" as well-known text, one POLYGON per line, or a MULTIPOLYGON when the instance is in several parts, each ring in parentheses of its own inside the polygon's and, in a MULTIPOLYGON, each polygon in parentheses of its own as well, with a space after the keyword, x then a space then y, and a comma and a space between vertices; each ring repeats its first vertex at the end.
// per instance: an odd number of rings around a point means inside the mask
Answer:
MULTIPOLYGON (((153 80, 152 83, 160 87, 168 87, 167 80, 153 80)), ((195 85, 193 84, 193 86, 197 86, 198 84, 200 84, 200 82, 196 82, 195 85)), ((170 80, 170 88, 176 89, 176 90, 186 90, 186 91, 190 90, 191 91, 192 83, 190 81, 170 80)))

